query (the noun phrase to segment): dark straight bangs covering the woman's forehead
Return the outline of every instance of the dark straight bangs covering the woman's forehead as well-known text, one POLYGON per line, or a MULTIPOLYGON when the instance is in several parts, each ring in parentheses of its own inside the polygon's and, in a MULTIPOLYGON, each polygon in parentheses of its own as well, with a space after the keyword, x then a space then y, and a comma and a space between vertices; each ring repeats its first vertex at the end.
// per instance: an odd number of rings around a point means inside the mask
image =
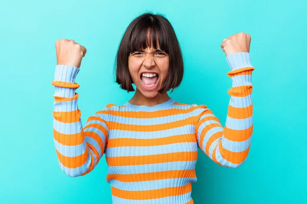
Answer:
POLYGON ((134 30, 131 32, 128 52, 134 53, 137 50, 144 50, 146 47, 158 47, 169 53, 167 38, 159 22, 152 18, 146 18, 136 23, 134 30))

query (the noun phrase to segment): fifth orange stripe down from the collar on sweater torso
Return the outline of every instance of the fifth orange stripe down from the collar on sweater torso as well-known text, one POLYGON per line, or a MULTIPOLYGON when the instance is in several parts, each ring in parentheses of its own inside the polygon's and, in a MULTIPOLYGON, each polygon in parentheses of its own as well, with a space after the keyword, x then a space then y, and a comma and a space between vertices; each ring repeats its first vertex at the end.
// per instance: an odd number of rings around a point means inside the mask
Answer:
POLYGON ((161 179, 176 179, 176 178, 195 178, 195 169, 189 170, 169 170, 157 171, 149 173, 134 173, 134 174, 107 174, 106 181, 117 180, 120 182, 145 182, 161 179))

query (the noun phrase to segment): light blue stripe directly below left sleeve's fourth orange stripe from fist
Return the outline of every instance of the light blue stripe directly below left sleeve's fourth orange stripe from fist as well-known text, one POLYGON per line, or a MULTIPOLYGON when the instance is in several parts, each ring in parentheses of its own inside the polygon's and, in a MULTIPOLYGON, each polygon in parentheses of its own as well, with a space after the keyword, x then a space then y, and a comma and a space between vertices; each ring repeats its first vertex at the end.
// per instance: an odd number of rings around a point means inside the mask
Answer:
MULTIPOLYGON (((67 138, 67 139, 69 140, 70 138, 67 138)), ((65 157, 77 157, 77 156, 83 155, 86 149, 85 143, 74 145, 74 146, 67 146, 67 145, 58 143, 54 138, 53 138, 53 141, 54 141, 55 148, 58 150, 58 152, 61 155, 65 157)))

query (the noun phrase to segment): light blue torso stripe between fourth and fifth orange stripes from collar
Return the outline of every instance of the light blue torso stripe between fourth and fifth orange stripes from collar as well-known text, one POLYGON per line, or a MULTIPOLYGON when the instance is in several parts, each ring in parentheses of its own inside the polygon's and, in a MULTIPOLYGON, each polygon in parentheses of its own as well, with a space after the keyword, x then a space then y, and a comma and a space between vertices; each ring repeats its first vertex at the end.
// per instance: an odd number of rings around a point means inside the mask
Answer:
POLYGON ((130 166, 108 166, 108 174, 135 174, 171 170, 190 170, 195 169, 196 161, 197 160, 130 166))

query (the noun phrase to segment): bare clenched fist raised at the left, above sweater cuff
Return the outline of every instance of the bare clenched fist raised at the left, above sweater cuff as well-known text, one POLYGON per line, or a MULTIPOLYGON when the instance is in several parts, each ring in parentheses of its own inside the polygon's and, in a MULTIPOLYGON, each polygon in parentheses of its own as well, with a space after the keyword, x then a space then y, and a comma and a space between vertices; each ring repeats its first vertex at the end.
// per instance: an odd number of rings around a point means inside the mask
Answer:
POLYGON ((86 48, 74 40, 60 39, 55 42, 57 65, 71 65, 80 68, 86 48))

